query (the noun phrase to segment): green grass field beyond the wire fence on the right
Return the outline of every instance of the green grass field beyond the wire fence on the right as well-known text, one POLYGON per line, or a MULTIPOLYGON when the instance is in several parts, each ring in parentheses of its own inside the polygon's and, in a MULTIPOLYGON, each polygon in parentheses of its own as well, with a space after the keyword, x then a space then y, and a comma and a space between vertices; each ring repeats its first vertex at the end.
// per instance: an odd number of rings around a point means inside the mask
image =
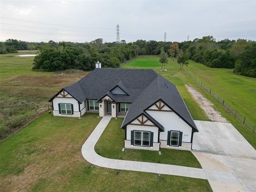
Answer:
POLYGON ((215 91, 231 108, 246 116, 256 125, 256 78, 235 75, 233 69, 209 68, 189 61, 185 66, 199 81, 215 91))

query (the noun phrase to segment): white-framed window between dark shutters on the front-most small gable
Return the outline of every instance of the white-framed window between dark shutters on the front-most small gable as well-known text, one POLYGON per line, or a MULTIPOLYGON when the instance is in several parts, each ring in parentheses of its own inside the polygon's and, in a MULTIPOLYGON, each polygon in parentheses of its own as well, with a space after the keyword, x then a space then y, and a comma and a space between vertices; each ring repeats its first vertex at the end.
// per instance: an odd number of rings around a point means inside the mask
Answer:
POLYGON ((134 146, 150 147, 150 132, 149 131, 134 131, 134 146))

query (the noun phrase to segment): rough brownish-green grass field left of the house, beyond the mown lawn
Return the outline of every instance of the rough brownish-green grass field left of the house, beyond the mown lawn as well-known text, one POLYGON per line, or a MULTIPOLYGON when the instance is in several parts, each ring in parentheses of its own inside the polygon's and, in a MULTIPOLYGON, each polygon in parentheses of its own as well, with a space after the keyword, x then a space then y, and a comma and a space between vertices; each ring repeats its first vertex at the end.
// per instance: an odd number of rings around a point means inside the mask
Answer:
POLYGON ((0 138, 29 122, 38 111, 47 110, 50 105, 47 101, 57 91, 87 74, 75 70, 66 73, 33 71, 34 57, 13 57, 17 54, 28 52, 0 54, 0 138))

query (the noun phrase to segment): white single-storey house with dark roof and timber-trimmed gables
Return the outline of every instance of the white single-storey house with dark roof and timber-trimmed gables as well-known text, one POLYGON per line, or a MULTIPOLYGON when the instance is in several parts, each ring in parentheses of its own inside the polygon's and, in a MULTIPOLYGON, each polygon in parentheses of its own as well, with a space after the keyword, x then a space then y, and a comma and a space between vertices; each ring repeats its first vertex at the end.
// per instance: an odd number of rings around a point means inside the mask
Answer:
POLYGON ((123 116, 125 148, 190 150, 198 132, 177 87, 154 70, 96 68, 50 102, 54 116, 123 116))

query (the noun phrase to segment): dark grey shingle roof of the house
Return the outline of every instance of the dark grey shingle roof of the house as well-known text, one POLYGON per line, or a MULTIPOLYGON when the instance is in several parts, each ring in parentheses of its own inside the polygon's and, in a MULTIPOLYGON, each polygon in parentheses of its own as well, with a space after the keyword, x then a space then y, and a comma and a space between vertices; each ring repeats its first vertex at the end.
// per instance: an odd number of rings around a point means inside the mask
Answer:
MULTIPOLYGON (((138 115, 146 114, 145 109, 161 99, 197 131, 177 87, 151 69, 97 68, 78 82, 65 87, 64 90, 81 103, 85 99, 98 100, 105 95, 109 95, 115 102, 132 102, 122 127, 125 127, 138 115), (110 90, 115 86, 119 86, 129 95, 111 93, 110 90)), ((50 101, 53 99, 54 97, 50 101)), ((155 121, 153 118, 150 120, 155 121)), ((155 123, 157 124, 156 121, 155 123)))

